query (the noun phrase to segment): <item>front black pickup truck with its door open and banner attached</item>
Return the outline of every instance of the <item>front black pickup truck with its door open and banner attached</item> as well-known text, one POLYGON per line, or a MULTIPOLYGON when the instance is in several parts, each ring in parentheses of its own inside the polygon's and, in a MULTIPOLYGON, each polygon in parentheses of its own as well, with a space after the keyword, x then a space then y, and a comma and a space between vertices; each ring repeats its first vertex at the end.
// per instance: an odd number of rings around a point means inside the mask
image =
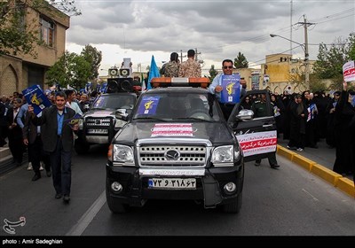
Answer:
POLYGON ((124 213, 149 199, 192 199, 205 208, 220 205, 225 213, 239 213, 245 158, 238 140, 247 160, 274 151, 276 143, 269 150, 250 145, 264 136, 276 139, 272 113, 253 120, 253 112, 238 104, 226 121, 207 89, 191 87, 189 79, 187 87, 181 79, 178 87, 168 85, 142 93, 129 115, 122 111, 128 122, 114 136, 106 163, 108 207, 124 213))

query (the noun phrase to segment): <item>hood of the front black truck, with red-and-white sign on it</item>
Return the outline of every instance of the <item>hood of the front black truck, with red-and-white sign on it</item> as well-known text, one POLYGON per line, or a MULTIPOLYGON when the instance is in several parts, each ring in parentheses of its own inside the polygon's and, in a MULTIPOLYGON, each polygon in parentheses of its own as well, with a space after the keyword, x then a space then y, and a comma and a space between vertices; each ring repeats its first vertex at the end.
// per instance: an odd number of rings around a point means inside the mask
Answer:
POLYGON ((204 139, 213 145, 234 143, 233 131, 223 122, 128 123, 114 138, 114 143, 134 145, 144 139, 204 139))

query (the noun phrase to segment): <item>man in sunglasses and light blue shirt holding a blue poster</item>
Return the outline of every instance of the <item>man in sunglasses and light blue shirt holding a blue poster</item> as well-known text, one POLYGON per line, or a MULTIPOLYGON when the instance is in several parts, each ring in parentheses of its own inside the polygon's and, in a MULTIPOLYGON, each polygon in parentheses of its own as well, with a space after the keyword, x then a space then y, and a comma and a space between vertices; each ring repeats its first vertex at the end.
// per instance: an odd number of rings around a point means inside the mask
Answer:
MULTIPOLYGON (((209 85, 209 93, 217 97, 219 106, 225 116, 225 120, 228 120, 231 112, 233 111, 234 104, 223 104, 221 103, 221 91, 222 88, 222 75, 232 75, 233 74, 233 61, 231 59, 225 59, 222 62, 223 74, 217 74, 213 79, 212 83, 209 85)), ((247 84, 246 81, 241 79, 241 97, 245 95, 247 84)))

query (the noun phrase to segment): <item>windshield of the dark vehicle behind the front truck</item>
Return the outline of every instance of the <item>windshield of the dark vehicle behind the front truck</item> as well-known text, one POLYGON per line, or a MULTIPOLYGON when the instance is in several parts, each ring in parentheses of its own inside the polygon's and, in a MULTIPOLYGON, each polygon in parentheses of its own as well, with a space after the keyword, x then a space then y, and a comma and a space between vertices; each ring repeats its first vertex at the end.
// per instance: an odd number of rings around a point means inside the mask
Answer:
POLYGON ((101 96, 95 101, 93 109, 133 109, 137 98, 130 95, 101 96))

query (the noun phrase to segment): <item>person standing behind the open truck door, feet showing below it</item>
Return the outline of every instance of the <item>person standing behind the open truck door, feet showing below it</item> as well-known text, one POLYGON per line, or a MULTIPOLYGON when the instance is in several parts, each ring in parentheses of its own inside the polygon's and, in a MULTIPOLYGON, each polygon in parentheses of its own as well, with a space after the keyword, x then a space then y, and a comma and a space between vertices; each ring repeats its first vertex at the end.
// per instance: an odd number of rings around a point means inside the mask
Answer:
MULTIPOLYGON (((267 105, 266 95, 262 94, 260 97, 260 100, 256 100, 253 103, 253 105, 251 105, 251 110, 254 112, 254 118, 268 116, 267 108, 269 108, 269 114, 273 115, 273 104, 270 103, 270 105, 267 105)), ((273 169, 280 167, 278 165, 277 160, 276 160, 276 151, 272 152, 270 155, 268 155, 267 159, 269 160, 270 167, 272 167, 273 169)), ((261 159, 257 159, 255 166, 256 167, 260 166, 260 163, 261 163, 261 159)))

